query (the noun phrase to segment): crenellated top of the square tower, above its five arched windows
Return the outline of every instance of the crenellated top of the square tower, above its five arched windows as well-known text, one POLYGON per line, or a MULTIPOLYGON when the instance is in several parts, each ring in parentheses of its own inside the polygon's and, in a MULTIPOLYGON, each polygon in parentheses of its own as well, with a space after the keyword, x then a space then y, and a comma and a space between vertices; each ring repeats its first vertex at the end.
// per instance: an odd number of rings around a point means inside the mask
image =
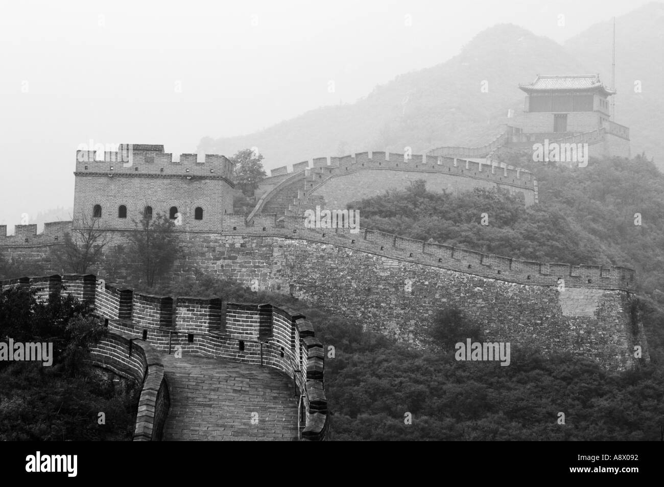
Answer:
POLYGON ((181 154, 179 161, 172 153, 164 153, 163 145, 120 145, 118 151, 105 151, 103 158, 96 151, 76 151, 76 176, 187 176, 189 178, 226 178, 232 180, 234 164, 225 156, 206 154, 199 161, 197 154, 181 154), (153 148, 153 149, 150 149, 153 148))

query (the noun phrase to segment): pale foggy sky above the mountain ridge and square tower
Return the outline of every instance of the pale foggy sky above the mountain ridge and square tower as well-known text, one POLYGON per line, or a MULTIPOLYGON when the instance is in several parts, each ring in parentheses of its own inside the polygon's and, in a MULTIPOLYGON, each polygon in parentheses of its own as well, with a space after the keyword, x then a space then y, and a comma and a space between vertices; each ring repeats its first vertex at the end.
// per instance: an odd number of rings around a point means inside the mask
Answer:
POLYGON ((448 60, 497 23, 562 43, 644 3, 2 3, 0 224, 72 206, 76 148, 90 139, 163 144, 177 160, 206 135, 252 133, 352 103, 398 74, 448 60))

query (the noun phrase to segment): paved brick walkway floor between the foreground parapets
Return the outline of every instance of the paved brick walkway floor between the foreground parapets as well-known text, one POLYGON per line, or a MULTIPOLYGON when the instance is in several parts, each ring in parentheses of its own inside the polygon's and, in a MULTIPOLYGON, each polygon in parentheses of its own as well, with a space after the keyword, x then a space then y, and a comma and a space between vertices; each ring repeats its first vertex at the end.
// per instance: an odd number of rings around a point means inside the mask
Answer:
POLYGON ((286 374, 191 354, 161 358, 171 393, 164 441, 297 440, 297 397, 286 374))

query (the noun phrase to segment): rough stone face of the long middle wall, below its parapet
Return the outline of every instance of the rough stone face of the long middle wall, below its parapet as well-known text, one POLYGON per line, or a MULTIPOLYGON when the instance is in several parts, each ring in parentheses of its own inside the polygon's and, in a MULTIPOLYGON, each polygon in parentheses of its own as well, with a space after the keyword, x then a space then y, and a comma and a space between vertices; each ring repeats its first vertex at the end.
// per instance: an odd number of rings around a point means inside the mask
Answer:
POLYGON ((418 346, 428 341, 436 313, 454 307, 491 340, 584 354, 607 368, 631 366, 635 345, 647 350, 641 324, 631 322, 629 286, 598 289, 608 279, 601 270, 598 276, 606 277, 594 280, 574 266, 563 273, 551 264, 545 275, 523 276, 537 283, 528 285, 501 280, 500 269, 492 269, 492 279, 311 240, 189 235, 186 247, 177 274, 197 267, 245 285, 258 282, 259 289, 291 293, 418 346), (564 291, 558 291, 561 277, 564 291))

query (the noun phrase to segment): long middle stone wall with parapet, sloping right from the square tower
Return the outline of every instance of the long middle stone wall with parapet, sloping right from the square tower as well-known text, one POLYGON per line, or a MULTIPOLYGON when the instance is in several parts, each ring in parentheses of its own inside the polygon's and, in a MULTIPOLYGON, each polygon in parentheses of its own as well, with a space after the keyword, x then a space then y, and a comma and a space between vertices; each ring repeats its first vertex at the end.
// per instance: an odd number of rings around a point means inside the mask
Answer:
MULTIPOLYGON (((426 345, 436 312, 455 307, 491 339, 585 354, 608 368, 629 368, 634 346, 647 351, 641 322, 630 311, 631 269, 522 261, 373 230, 305 228, 299 216, 254 215, 248 223, 245 215, 227 215, 214 225, 181 230, 186 251, 174 275, 202 271, 258 283, 418 346, 426 345)), ((25 230, 0 245, 9 255, 47 260, 56 236, 26 236, 25 230)), ((122 242, 125 232, 112 233, 122 242)), ((132 267, 127 263, 112 278, 129 280, 132 267)))

